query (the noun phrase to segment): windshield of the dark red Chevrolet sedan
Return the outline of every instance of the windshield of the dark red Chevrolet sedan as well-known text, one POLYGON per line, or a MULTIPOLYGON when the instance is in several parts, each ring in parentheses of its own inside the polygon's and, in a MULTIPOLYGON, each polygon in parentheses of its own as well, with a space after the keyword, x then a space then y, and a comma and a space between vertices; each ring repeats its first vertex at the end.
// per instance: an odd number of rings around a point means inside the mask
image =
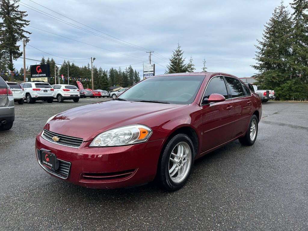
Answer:
POLYGON ((152 77, 124 91, 119 98, 128 101, 189 104, 195 99, 204 78, 204 75, 152 77))

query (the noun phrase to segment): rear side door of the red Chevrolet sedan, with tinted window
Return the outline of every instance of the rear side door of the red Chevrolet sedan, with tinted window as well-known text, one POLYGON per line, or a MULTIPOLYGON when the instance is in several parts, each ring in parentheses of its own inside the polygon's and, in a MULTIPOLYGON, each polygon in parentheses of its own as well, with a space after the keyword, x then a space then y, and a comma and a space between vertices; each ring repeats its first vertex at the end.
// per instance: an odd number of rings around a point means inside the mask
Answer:
POLYGON ((232 138, 246 132, 250 121, 252 100, 250 90, 238 79, 225 76, 232 95, 232 111, 234 116, 234 129, 232 138))

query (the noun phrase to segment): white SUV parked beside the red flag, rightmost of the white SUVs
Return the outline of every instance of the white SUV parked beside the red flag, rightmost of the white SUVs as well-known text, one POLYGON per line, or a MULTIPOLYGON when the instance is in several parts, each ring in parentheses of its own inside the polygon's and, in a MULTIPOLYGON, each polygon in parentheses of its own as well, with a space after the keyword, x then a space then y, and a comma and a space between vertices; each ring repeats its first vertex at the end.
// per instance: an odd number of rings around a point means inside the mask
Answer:
POLYGON ((55 91, 54 98, 59 103, 62 103, 64 99, 73 99, 74 102, 80 99, 79 89, 75 85, 54 84, 52 87, 55 91))

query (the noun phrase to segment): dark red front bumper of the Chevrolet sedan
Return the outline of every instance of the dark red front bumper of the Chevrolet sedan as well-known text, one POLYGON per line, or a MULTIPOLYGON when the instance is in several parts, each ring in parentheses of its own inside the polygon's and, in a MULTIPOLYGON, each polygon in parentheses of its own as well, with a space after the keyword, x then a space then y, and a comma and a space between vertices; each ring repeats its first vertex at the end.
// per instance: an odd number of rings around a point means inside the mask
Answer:
POLYGON ((165 139, 120 147, 79 148, 51 143, 40 134, 35 140, 37 150, 47 149, 56 158, 70 163, 68 176, 60 177, 46 167, 50 175, 88 188, 124 188, 150 182, 156 176, 158 159, 165 139), (65 179, 66 178, 66 179, 65 179))

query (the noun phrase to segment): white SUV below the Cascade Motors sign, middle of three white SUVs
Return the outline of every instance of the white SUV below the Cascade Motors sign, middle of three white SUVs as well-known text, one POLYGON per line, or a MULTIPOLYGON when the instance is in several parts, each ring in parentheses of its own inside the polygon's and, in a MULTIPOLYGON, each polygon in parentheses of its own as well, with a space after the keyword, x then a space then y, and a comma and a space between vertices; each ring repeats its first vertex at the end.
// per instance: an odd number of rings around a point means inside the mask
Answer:
POLYGON ((20 84, 25 89, 27 103, 34 103, 36 100, 52 103, 54 100, 54 89, 45 82, 26 82, 20 84))

